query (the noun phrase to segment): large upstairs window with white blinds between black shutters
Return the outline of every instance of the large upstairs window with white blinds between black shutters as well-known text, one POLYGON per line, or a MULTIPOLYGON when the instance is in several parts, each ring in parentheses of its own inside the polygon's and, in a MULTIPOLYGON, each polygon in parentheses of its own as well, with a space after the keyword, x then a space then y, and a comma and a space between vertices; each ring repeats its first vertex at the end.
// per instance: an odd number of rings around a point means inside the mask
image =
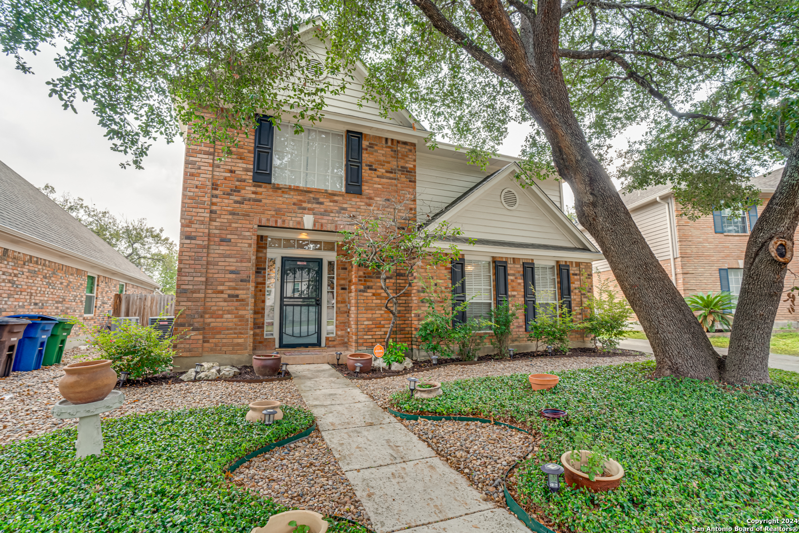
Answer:
POLYGON ((275 129, 272 182, 344 191, 344 133, 305 128, 275 129))

